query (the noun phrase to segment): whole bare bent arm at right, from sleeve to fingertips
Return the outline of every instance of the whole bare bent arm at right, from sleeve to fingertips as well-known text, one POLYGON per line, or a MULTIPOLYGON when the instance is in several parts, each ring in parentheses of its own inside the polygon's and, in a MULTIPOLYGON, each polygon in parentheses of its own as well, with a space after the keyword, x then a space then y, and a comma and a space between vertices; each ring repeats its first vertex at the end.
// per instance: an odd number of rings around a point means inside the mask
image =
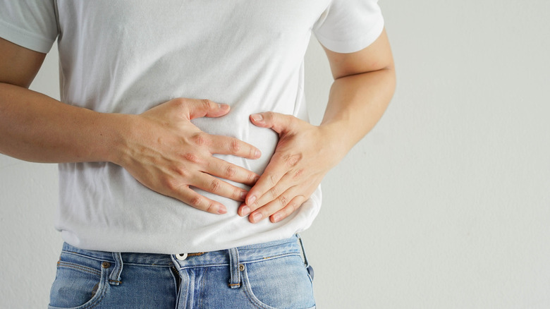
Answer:
POLYGON ((319 126, 273 112, 250 116, 256 126, 279 133, 271 161, 239 208, 252 223, 267 217, 278 222, 297 210, 374 127, 391 100, 396 77, 385 30, 359 52, 325 52, 334 83, 319 126))

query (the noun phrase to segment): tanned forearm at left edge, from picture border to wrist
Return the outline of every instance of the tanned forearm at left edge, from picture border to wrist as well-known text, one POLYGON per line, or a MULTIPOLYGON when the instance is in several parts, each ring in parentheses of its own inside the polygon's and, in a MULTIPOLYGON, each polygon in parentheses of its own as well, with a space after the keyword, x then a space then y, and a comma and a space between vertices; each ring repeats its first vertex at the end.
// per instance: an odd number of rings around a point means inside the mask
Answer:
POLYGON ((0 83, 0 152, 31 162, 111 161, 125 119, 0 83))

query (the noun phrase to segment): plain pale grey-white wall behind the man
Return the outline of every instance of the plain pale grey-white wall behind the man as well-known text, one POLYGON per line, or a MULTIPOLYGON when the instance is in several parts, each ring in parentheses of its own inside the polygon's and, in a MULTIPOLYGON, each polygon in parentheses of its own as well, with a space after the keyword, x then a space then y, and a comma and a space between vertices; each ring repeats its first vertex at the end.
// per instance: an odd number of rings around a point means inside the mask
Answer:
MULTIPOLYGON (((550 308, 550 2, 380 2, 398 88, 302 234, 319 308, 550 308)), ((59 97, 56 49, 32 89, 59 97)), ((331 83, 313 39, 306 95, 331 83)), ((1 137, 0 137, 1 138, 1 137)), ((0 155, 0 307, 46 308, 54 164, 0 155)))

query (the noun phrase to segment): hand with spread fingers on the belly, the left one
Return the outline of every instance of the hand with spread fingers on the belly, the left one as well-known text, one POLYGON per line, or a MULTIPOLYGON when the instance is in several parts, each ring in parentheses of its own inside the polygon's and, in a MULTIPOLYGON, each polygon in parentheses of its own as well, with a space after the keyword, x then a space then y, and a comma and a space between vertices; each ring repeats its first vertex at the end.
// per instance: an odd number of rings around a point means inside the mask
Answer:
POLYGON ((163 195, 214 214, 227 212, 220 202, 205 198, 193 187, 243 201, 247 191, 214 176, 252 186, 257 174, 212 154, 233 154, 257 159, 257 148, 236 138, 209 135, 191 119, 219 117, 229 112, 226 104, 209 100, 173 99, 133 116, 128 139, 123 141, 119 162, 140 183, 163 195))

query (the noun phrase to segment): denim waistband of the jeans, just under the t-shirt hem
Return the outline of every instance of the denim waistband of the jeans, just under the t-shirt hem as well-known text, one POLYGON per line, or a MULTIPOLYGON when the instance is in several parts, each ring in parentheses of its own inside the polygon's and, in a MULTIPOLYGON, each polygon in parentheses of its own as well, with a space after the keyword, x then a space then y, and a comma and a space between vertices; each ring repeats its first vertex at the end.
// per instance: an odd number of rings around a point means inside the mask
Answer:
MULTIPOLYGON (((298 243, 299 236, 283 239, 281 241, 270 241, 267 243, 258 243, 250 246, 237 247, 238 260, 241 263, 256 262, 266 260, 271 257, 281 257, 285 255, 300 255, 301 245, 298 243)), ((116 261, 115 257, 121 257, 125 265, 140 265, 152 267, 171 267, 174 265, 175 255, 156 254, 156 253, 120 253, 120 255, 105 251, 84 250, 63 244, 63 253, 82 255, 94 260, 105 262, 116 261)), ((210 251, 205 253, 188 253, 185 260, 178 261, 182 267, 209 266, 209 265, 229 265, 230 249, 210 251)))

